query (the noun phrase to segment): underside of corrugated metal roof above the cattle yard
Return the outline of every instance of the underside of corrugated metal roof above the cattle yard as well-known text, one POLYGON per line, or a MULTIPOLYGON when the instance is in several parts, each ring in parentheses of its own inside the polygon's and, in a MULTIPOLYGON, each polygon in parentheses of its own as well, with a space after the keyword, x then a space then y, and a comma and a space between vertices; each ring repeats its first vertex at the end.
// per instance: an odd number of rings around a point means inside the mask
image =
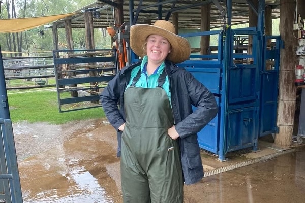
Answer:
MULTIPOLYGON (((251 0, 250 0, 251 1, 251 0)), ((255 0, 256 1, 256 0, 255 0)), ((124 22, 130 21, 130 2, 124 1, 124 22)), ((212 0, 193 0, 193 1, 176 1, 176 0, 143 0, 134 2, 134 15, 136 15, 139 4, 141 5, 141 12, 139 12, 137 23, 144 23, 145 20, 150 20, 154 23, 158 19, 158 6, 162 8, 162 19, 165 19, 168 14, 171 14, 169 21, 172 20, 172 13, 177 12, 179 16, 179 28, 199 29, 201 22, 201 6, 211 4, 210 12, 210 27, 217 28, 223 25, 223 16, 220 10, 212 0), (158 3, 160 2, 160 3, 158 3)), ((84 11, 96 10, 100 12, 99 18, 93 19, 94 28, 106 28, 109 23, 115 24, 113 20, 113 2, 110 0, 100 0, 89 4, 83 8, 78 9, 77 15, 71 19, 73 28, 84 28, 84 11), (107 4, 108 3, 108 4, 107 4), (83 11, 83 12, 82 12, 83 11)), ((219 1, 221 7, 226 10, 225 1, 219 1)), ((266 6, 272 8, 272 18, 280 17, 280 0, 266 0, 266 6)), ((260 5, 259 5, 260 6, 260 5)), ((242 24, 248 22, 249 17, 249 4, 246 0, 233 0, 232 1, 232 25, 242 24)), ((64 21, 59 20, 56 22, 58 27, 64 27, 64 21)))

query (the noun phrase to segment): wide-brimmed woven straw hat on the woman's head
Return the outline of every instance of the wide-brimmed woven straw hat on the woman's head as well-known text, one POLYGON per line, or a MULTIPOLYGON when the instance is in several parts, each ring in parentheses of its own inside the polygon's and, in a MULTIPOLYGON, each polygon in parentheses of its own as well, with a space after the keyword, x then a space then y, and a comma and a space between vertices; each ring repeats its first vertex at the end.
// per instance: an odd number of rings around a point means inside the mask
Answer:
POLYGON ((172 48, 167 59, 180 63, 189 58, 191 48, 189 42, 175 34, 174 25, 166 20, 157 20, 154 25, 136 24, 130 27, 130 47, 140 57, 145 56, 144 44, 149 35, 160 35, 166 38, 172 48))

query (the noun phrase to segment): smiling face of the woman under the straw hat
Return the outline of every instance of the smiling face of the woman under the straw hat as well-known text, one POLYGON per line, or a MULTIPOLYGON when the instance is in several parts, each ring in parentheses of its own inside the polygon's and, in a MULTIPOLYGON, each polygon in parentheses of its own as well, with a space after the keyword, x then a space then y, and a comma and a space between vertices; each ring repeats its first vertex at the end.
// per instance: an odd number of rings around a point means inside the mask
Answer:
POLYGON ((150 35, 147 38, 146 53, 148 62, 160 65, 171 51, 167 39, 160 35, 150 35))

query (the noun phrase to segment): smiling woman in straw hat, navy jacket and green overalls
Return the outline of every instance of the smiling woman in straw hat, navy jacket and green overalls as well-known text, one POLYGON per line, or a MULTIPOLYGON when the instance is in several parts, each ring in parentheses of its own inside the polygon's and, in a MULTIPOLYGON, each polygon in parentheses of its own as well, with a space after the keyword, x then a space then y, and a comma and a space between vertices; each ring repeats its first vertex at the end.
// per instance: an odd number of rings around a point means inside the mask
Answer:
POLYGON ((188 59, 190 44, 172 23, 131 26, 130 47, 142 59, 124 67, 101 93, 118 131, 123 201, 183 202, 184 183, 203 177, 196 133, 216 116, 215 97, 175 65, 188 59))

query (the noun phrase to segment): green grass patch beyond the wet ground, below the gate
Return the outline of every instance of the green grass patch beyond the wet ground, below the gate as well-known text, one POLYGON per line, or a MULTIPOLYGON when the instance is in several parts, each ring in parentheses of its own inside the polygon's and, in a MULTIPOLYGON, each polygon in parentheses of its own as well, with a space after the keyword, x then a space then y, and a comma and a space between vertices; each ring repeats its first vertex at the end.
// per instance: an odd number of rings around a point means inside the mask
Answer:
MULTIPOLYGON (((56 91, 14 92, 8 91, 12 122, 63 124, 71 121, 105 117, 102 107, 59 113, 56 91)), ((70 104, 70 107, 74 105, 70 104)), ((79 104, 78 107, 81 107, 81 105, 79 104)))

